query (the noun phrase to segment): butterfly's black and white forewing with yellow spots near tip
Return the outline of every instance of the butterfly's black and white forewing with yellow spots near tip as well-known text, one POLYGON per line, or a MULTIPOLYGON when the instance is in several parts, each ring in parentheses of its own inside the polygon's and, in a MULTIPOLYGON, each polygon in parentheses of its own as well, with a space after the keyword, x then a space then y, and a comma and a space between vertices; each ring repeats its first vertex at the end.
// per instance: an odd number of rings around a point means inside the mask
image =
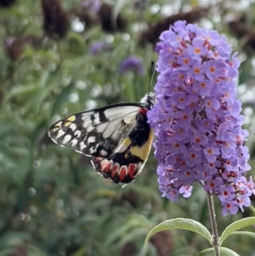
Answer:
POLYGON ((55 143, 87 156, 110 156, 133 130, 139 109, 124 104, 82 112, 53 124, 48 133, 55 143))

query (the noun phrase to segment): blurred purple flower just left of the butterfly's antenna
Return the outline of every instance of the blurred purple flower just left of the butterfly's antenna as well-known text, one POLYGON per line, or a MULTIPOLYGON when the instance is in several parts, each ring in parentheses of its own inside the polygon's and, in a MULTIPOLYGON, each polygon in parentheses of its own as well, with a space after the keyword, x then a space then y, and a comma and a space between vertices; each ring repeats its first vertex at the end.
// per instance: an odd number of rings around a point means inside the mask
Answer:
POLYGON ((124 59, 124 61, 122 61, 122 63, 120 63, 119 72, 125 73, 128 71, 138 73, 139 75, 144 75, 145 68, 143 67, 142 59, 140 59, 136 56, 130 56, 127 59, 124 59))

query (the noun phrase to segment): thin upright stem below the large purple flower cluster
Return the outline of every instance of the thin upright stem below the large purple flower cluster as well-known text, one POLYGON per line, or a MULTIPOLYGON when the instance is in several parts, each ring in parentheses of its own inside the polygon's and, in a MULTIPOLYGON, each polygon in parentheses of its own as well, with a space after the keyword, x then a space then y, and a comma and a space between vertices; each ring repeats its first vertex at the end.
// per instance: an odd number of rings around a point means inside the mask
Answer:
POLYGON ((212 240, 214 243, 214 255, 220 256, 219 253, 219 235, 218 235, 218 229, 217 229, 217 222, 216 222, 216 215, 215 215, 215 209, 214 209, 214 199, 212 197, 211 193, 207 193, 207 203, 210 213, 210 220, 212 225, 212 240))

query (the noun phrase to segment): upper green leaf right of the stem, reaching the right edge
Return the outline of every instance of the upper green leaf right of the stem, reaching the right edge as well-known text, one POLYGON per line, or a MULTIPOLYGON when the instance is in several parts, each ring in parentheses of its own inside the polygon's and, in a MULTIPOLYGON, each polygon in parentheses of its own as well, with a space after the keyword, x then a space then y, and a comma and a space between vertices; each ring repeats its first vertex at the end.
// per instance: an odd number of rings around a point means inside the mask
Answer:
POLYGON ((222 245, 223 241, 230 236, 233 232, 238 229, 243 229, 244 227, 249 227, 255 225, 255 217, 244 218, 242 220, 237 220, 237 222, 231 223, 226 229, 222 232, 220 238, 220 245, 222 245))

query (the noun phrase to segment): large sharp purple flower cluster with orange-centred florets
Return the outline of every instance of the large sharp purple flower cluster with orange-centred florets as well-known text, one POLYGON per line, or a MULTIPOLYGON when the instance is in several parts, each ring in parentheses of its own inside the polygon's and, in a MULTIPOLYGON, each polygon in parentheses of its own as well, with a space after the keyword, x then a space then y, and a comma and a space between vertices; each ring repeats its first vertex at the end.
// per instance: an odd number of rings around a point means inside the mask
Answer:
POLYGON ((240 62, 217 31, 175 22, 157 43, 156 105, 148 112, 156 133, 159 189, 164 197, 189 197, 192 184, 221 200, 222 213, 251 204, 254 190, 248 136, 235 89, 240 62))

